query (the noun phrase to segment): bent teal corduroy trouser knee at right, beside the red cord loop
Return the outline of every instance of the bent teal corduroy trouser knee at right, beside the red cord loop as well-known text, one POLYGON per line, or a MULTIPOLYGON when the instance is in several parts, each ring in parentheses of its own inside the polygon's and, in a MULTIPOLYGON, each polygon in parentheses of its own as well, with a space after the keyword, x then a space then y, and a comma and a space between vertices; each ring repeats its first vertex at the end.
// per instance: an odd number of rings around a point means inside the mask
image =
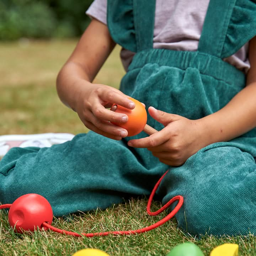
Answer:
POLYGON ((170 171, 169 182, 176 182, 168 198, 184 197, 176 214, 182 229, 193 235, 256 232, 256 164, 250 154, 230 146, 209 147, 170 171))

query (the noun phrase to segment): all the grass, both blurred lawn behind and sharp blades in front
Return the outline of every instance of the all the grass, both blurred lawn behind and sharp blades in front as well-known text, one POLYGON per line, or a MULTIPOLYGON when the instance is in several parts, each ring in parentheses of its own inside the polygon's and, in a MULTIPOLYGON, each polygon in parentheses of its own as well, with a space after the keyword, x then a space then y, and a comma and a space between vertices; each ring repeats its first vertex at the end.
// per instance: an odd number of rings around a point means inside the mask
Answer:
MULTIPOLYGON (((87 132, 76 113, 60 102, 55 90, 57 73, 75 44, 75 40, 0 44, 1 134, 87 132)), ((118 87, 124 74, 118 60, 119 50, 118 47, 114 49, 95 82, 118 87)), ((144 228, 167 214, 150 217, 146 213, 146 203, 146 198, 133 198, 104 211, 98 209, 54 218, 53 225, 87 233, 144 228)), ((160 204, 154 202, 152 210, 159 207, 160 204)), ((0 210, 0 256, 70 256, 87 247, 101 249, 111 256, 165 256, 172 247, 184 241, 194 242, 205 256, 225 242, 238 244, 240 256, 256 255, 253 235, 222 238, 204 235, 198 240, 177 230, 175 220, 139 235, 76 238, 49 230, 16 234, 7 218, 7 213, 0 210)))

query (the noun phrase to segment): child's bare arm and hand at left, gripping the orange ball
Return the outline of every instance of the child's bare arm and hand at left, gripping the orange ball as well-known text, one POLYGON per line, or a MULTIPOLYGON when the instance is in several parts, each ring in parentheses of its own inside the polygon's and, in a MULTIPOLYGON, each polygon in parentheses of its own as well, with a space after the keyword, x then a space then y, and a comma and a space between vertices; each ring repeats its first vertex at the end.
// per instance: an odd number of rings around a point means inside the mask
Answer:
POLYGON ((134 102, 111 86, 91 83, 115 45, 107 26, 92 20, 58 74, 57 91, 62 102, 78 113, 87 128, 119 140, 127 136, 127 131, 108 121, 126 122, 127 115, 106 108, 116 103, 133 109, 134 102))

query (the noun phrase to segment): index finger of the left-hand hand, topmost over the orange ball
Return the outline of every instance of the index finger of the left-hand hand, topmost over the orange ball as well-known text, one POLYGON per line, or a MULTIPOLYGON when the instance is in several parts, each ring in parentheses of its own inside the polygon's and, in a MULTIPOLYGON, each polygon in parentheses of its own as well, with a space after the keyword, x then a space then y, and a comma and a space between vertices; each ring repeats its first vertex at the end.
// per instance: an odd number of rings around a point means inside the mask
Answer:
POLYGON ((135 107, 135 103, 132 100, 113 90, 104 90, 99 96, 103 101, 115 103, 125 108, 133 109, 135 107))

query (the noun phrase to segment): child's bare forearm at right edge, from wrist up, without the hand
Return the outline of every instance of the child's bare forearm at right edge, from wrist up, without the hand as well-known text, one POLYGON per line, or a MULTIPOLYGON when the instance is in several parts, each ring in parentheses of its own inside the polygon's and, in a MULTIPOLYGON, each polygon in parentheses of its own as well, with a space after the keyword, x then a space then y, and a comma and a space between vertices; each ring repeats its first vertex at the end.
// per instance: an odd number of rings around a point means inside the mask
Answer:
POLYGON ((247 85, 221 110, 200 121, 206 144, 234 139, 256 127, 256 82, 247 85))

